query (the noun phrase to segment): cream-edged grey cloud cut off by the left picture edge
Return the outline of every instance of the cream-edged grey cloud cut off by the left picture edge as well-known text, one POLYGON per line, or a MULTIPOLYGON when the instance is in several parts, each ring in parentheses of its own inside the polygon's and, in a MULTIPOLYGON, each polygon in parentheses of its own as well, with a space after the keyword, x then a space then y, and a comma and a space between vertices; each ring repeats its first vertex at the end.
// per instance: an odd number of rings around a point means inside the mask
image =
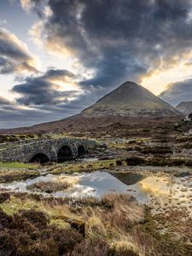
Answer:
POLYGON ((36 64, 26 45, 13 33, 0 28, 0 73, 35 73, 36 64))

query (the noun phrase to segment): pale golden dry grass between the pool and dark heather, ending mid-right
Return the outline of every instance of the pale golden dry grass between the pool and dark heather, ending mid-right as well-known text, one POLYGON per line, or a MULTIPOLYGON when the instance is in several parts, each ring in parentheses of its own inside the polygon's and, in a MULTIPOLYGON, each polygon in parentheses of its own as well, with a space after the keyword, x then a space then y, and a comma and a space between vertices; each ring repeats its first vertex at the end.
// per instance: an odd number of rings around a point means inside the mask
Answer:
POLYGON ((77 203, 68 201, 67 203, 67 201, 54 198, 35 201, 29 195, 23 195, 23 197, 11 195, 9 201, 1 204, 1 208, 9 215, 20 210, 41 211, 49 216, 50 224, 56 224, 59 227, 67 225, 66 222, 62 222, 67 218, 74 218, 86 224, 86 236, 91 241, 91 247, 95 244, 92 241, 99 239, 108 246, 108 250, 114 252, 118 250, 131 250, 132 253, 143 251, 143 247, 137 243, 137 237, 130 233, 130 228, 143 221, 144 207, 139 206, 128 195, 107 195, 102 201, 88 198, 82 203, 80 201, 77 203))

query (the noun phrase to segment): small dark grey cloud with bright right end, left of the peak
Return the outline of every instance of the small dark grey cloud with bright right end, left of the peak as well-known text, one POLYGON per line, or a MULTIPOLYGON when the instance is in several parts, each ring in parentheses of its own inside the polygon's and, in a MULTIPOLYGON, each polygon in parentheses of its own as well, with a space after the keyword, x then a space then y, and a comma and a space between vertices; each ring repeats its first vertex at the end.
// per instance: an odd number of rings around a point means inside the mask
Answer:
POLYGON ((49 69, 42 76, 28 77, 24 83, 17 84, 12 89, 20 95, 17 102, 29 105, 57 105, 76 98, 80 90, 64 90, 60 83, 73 85, 75 76, 67 70, 49 69))

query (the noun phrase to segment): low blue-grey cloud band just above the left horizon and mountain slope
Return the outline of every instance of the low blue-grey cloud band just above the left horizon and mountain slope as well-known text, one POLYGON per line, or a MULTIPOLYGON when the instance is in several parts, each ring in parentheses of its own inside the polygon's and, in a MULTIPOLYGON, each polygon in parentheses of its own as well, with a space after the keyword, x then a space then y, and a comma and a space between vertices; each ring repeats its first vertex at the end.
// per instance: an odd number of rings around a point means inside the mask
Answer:
POLYGON ((3 108, 0 108, 0 129, 35 125, 42 123, 42 120, 50 122, 66 118, 80 112, 89 106, 91 102, 96 102, 98 96, 101 95, 101 90, 102 88, 90 87, 90 90, 82 93, 72 101, 62 102, 57 105, 45 104, 33 106, 33 108, 29 108, 29 106, 20 108, 17 105, 4 105, 3 108))

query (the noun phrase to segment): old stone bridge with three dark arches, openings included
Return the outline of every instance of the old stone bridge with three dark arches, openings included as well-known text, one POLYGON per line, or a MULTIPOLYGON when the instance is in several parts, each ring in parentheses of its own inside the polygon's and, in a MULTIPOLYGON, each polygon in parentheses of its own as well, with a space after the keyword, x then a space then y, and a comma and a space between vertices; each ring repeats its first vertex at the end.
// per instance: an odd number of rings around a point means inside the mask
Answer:
POLYGON ((78 158, 95 147, 94 140, 72 137, 6 143, 0 146, 0 160, 24 163, 62 162, 78 158))

